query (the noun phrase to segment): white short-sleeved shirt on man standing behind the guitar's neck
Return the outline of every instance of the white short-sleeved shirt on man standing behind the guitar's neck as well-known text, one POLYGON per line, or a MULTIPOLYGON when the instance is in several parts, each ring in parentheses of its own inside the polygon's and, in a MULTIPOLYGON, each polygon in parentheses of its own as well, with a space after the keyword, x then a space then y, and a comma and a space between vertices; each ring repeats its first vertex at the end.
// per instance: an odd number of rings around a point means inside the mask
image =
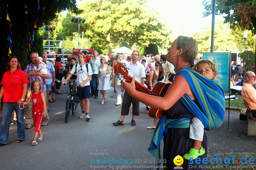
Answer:
POLYGON ((139 83, 141 83, 140 78, 146 77, 144 66, 139 61, 137 61, 135 64, 129 62, 127 67, 129 69, 128 75, 130 77, 135 75, 135 80, 137 80, 139 83))

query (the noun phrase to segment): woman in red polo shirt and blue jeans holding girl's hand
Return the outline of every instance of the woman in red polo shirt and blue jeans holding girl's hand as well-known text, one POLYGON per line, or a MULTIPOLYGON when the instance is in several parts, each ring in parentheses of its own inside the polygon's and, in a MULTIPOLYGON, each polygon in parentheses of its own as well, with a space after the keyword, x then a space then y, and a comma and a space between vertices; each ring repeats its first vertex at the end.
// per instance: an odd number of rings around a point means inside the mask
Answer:
MULTIPOLYGON (((0 145, 6 145, 9 137, 9 124, 12 111, 17 114, 18 139, 16 142, 25 141, 25 121, 24 110, 20 109, 27 93, 28 79, 18 64, 18 58, 12 56, 7 64, 7 71, 2 77, 2 88, 0 90, 0 100, 4 96, 3 119, 0 128, 0 145), (20 107, 19 107, 20 105, 20 107)), ((1 101, 0 101, 1 103, 1 101)), ((1 106, 1 104, 0 104, 1 106)))

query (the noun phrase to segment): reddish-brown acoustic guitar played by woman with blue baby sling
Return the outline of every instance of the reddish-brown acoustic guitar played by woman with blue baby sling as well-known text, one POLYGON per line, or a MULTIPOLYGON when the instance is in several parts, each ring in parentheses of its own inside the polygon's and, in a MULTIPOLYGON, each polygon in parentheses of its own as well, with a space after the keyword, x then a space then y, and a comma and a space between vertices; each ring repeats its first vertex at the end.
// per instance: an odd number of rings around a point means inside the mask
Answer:
MULTIPOLYGON (((130 77, 128 75, 128 69, 124 66, 123 63, 118 62, 114 66, 114 73, 123 82, 125 82, 125 81, 127 83, 132 82, 132 77, 130 77)), ((148 94, 148 95, 152 95, 152 96, 164 97, 164 95, 165 95, 165 93, 166 93, 166 91, 167 91, 167 89, 169 88, 170 85, 171 85, 170 83, 166 83, 164 81, 158 81, 158 83, 156 83, 156 85, 154 86, 153 90, 150 91, 144 85, 142 85, 137 80, 135 80, 135 89, 136 90, 138 90, 140 92, 143 92, 145 94, 148 94)), ((164 115, 164 111, 151 107, 149 109, 148 114, 149 114, 150 117, 160 120, 162 118, 162 116, 164 115)))

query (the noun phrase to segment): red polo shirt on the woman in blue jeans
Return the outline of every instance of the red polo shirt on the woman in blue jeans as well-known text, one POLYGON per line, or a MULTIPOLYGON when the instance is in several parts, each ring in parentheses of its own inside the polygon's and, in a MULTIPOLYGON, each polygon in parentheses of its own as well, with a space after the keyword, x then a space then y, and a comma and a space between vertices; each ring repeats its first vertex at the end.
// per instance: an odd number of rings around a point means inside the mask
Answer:
POLYGON ((4 73, 1 84, 4 87, 3 102, 18 102, 22 97, 23 85, 28 83, 25 72, 16 69, 13 73, 11 70, 4 73))

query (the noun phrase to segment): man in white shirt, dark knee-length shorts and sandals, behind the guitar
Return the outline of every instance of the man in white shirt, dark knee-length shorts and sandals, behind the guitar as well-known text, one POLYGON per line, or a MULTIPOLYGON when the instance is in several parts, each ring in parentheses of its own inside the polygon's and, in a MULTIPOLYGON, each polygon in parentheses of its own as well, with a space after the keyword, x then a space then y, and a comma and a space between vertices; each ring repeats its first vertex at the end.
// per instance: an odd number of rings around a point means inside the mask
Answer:
MULTIPOLYGON (((128 67, 128 75, 131 77, 135 76, 135 80, 137 80, 139 83, 144 84, 145 80, 145 69, 142 63, 138 61, 139 58, 139 51, 133 50, 132 52, 132 61, 129 62, 126 67, 128 67)), ((135 126, 135 116, 139 115, 139 101, 137 101, 135 98, 130 96, 127 92, 124 92, 123 97, 123 104, 122 104, 122 111, 121 111, 121 118, 113 123, 113 125, 123 125, 124 116, 129 114, 129 109, 131 104, 133 104, 132 107, 132 121, 131 125, 135 126)))

